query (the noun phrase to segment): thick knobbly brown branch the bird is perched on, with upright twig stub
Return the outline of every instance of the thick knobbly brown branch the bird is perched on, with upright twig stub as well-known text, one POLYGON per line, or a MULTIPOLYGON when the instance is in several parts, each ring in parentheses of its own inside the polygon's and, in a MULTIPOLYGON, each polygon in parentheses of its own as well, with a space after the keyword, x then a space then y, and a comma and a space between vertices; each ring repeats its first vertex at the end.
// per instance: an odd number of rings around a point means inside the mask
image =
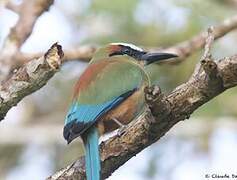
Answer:
MULTIPOLYGON (((209 29, 201 63, 196 66, 193 75, 186 83, 166 96, 161 93, 159 87, 145 89, 150 111, 130 123, 121 136, 114 136, 101 143, 103 179, 144 148, 159 140, 176 123, 188 119, 207 101, 237 85, 237 55, 217 62, 210 59, 210 46, 214 37, 216 31, 209 29)), ((48 180, 55 179, 85 179, 84 158, 78 159, 48 178, 48 180)))

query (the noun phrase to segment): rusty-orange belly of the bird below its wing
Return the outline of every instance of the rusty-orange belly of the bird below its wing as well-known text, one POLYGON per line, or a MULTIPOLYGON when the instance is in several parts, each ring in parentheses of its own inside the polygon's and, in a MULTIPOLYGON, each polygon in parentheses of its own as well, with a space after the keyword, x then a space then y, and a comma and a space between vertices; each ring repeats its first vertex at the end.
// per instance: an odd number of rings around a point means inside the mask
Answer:
POLYGON ((128 124, 138 115, 143 105, 143 91, 140 90, 102 117, 98 124, 100 133, 108 133, 119 128, 119 125, 113 119, 118 120, 123 125, 128 124))

